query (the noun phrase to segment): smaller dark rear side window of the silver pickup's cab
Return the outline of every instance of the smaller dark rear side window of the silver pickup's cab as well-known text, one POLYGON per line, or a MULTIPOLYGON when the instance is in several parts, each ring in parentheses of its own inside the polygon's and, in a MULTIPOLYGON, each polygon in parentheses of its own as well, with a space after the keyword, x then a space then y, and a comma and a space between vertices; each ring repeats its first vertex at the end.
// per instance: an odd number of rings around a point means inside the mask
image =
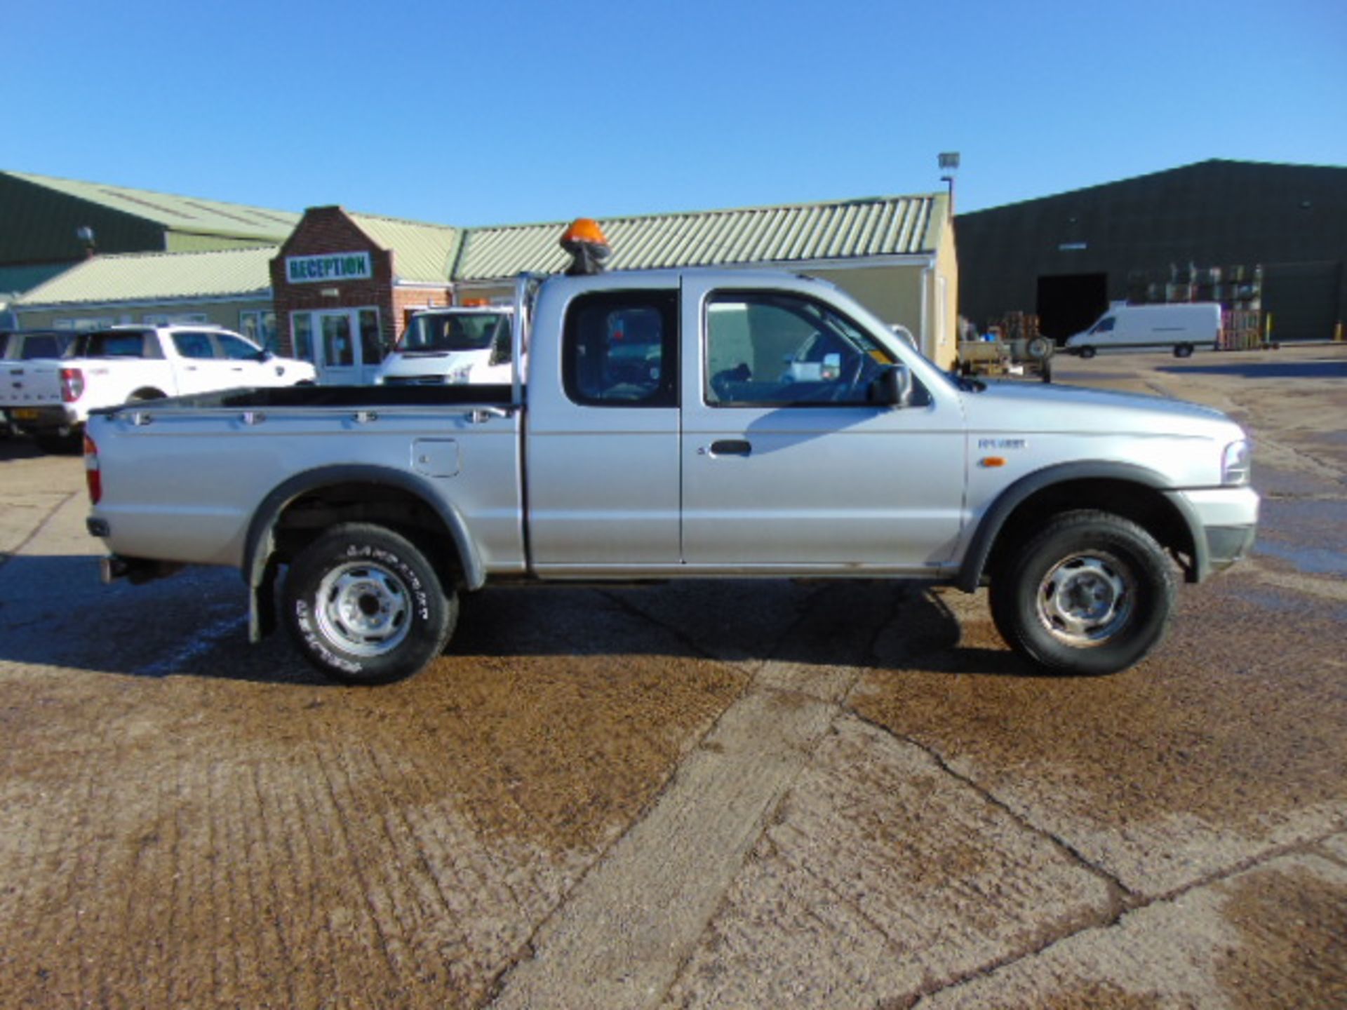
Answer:
POLYGON ((678 405, 678 295, 603 291, 566 314, 566 395, 589 407, 678 405))

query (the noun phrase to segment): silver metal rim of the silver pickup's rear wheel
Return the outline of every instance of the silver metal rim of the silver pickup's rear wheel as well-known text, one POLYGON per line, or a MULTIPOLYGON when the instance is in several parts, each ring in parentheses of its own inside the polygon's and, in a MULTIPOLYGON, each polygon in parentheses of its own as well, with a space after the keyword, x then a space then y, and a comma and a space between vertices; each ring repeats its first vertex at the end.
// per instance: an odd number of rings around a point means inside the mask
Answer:
POLYGON ((353 656, 383 656, 407 637, 411 594, 381 564, 353 562, 333 568, 318 586, 318 625, 353 656))

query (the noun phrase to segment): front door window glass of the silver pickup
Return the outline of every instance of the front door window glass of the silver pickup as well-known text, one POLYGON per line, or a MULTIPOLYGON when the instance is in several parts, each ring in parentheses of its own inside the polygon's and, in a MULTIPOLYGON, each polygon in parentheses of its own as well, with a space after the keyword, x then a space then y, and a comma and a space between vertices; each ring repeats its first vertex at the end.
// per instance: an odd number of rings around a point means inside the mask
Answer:
POLYGON ((865 404, 893 356, 832 308, 788 292, 717 292, 706 306, 711 407, 865 404))

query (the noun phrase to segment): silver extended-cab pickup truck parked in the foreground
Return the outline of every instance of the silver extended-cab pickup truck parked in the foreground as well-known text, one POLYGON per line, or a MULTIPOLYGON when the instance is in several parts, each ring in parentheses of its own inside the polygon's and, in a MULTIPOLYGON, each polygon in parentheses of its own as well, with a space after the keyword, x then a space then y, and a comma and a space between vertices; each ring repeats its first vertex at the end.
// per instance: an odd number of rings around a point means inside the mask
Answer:
POLYGON ((1009 645, 1107 673, 1161 641, 1180 572, 1253 543, 1220 412, 959 380, 824 281, 524 277, 513 327, 511 384, 96 412, 105 578, 237 567, 253 640, 280 586, 298 648, 350 683, 423 668, 488 583, 719 576, 989 584, 1009 645))

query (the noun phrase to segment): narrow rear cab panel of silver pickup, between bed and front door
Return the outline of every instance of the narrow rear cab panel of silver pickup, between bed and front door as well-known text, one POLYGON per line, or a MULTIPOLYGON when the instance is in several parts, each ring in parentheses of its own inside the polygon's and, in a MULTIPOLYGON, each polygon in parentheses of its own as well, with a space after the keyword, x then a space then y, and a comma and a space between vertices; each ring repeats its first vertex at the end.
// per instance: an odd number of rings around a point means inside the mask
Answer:
MULTIPOLYGON (((605 279, 605 283, 613 281, 605 279)), ((531 350, 528 516, 544 574, 679 563, 678 290, 607 287, 540 311, 531 350)))

